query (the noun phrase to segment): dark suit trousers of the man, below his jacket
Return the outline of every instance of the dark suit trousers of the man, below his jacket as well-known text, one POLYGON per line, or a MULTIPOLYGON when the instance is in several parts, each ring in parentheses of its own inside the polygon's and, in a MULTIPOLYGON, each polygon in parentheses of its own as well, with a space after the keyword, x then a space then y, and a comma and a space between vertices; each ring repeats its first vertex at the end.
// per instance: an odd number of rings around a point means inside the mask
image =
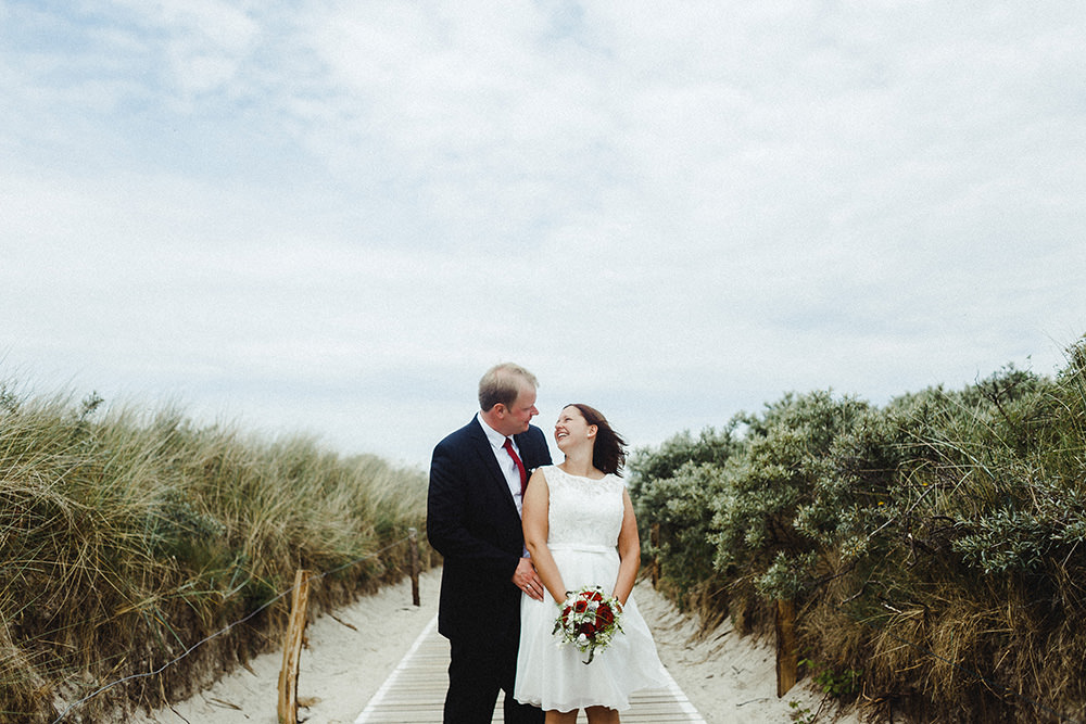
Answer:
POLYGON ((490 724, 500 690, 505 691, 506 724, 543 724, 542 710, 513 698, 519 633, 450 643, 445 724, 490 724))

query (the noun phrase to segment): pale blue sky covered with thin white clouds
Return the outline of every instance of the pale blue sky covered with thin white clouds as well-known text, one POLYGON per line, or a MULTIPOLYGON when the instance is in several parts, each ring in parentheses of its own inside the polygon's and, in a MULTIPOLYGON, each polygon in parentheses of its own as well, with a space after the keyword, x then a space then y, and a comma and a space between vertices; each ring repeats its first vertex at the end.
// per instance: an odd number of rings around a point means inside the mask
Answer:
POLYGON ((426 467, 1051 373, 1086 7, 0 0, 0 379, 426 467))

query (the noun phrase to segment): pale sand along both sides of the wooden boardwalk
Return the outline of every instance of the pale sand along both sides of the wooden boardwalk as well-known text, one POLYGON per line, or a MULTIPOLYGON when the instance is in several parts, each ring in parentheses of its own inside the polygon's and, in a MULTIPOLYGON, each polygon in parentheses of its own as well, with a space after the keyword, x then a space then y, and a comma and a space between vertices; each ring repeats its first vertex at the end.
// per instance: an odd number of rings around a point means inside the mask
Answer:
MULTIPOLYGON (((421 607, 411 604, 411 583, 387 587, 307 630, 299 697, 314 699, 301 711, 308 724, 353 724, 418 634, 437 612, 440 570, 419 583, 421 607), (350 624, 350 625, 348 625, 350 624), (353 626, 353 627, 352 627, 353 626)), ((774 655, 768 644, 740 638, 725 622, 695 638, 696 622, 679 614, 646 583, 634 595, 653 628, 660 659, 708 724, 785 724, 790 701, 818 709, 818 698, 797 686, 776 698, 774 655)), ((201 694, 136 720, 137 724, 277 724, 276 686, 281 653, 254 659, 250 669, 201 694)), ((583 716, 581 717, 583 721, 583 716)), ((858 724, 855 714, 839 720, 858 724)))

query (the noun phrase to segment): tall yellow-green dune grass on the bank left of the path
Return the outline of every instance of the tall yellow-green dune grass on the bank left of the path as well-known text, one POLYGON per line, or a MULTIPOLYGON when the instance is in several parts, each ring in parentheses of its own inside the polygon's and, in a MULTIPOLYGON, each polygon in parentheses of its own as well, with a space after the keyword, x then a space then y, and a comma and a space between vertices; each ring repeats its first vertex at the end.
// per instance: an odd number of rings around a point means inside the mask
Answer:
MULTIPOLYGON (((162 668, 275 600, 299 568, 330 572, 318 607, 402 575, 397 542, 425 517, 420 471, 197 427, 177 409, 103 408, 0 384, 0 722, 51 722, 162 668)), ((275 646, 287 606, 65 721, 192 693, 275 646)))

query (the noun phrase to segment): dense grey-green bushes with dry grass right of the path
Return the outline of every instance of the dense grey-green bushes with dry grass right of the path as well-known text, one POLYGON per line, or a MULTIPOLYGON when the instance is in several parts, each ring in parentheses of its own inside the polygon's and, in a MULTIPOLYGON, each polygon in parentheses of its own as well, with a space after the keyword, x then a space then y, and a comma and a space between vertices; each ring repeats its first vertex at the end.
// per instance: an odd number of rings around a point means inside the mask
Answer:
POLYGON ((1086 721, 1084 432, 1086 339, 1055 378, 786 395, 642 450, 631 492, 681 605, 766 632, 796 601, 874 719, 1086 721))

